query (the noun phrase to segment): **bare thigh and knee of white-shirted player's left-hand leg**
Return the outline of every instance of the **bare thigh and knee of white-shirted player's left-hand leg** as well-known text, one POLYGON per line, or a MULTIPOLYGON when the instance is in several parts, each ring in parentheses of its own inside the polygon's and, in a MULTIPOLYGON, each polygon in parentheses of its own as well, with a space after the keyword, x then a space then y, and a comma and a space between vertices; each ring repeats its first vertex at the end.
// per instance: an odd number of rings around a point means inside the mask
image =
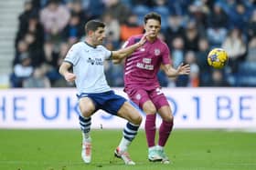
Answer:
POLYGON ((80 98, 79 105, 81 115, 83 116, 91 116, 95 112, 95 105, 89 97, 80 98))

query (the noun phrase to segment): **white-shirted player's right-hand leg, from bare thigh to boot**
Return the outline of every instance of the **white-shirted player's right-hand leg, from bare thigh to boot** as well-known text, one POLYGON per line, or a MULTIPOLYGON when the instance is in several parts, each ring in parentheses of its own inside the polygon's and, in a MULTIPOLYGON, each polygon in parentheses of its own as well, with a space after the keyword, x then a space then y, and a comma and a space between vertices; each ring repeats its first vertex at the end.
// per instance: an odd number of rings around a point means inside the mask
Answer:
POLYGON ((127 150, 128 146, 131 145, 133 139, 137 135, 139 126, 142 123, 142 116, 133 105, 128 102, 123 103, 117 115, 128 120, 128 123, 123 129, 123 138, 115 150, 115 156, 122 158, 126 165, 134 165, 135 163, 132 161, 127 150))

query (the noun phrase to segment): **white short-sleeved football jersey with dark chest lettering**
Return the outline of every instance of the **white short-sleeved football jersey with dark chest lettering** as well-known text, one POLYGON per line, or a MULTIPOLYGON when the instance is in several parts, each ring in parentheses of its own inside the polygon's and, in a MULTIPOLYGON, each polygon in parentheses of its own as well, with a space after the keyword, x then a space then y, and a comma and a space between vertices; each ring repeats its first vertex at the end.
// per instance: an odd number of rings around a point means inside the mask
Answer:
POLYGON ((112 52, 102 45, 93 47, 85 42, 72 45, 64 61, 73 65, 79 94, 111 90, 104 74, 104 60, 110 59, 111 55, 112 52))

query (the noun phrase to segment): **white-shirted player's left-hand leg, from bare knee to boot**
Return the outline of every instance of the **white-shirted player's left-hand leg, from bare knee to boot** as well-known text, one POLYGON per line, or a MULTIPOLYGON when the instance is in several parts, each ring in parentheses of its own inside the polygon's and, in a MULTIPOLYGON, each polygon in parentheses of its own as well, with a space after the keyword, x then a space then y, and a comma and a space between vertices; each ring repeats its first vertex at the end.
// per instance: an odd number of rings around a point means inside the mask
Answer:
POLYGON ((84 163, 91 163, 91 115, 95 112, 95 105, 88 97, 80 98, 80 129, 82 131, 81 157, 84 163))

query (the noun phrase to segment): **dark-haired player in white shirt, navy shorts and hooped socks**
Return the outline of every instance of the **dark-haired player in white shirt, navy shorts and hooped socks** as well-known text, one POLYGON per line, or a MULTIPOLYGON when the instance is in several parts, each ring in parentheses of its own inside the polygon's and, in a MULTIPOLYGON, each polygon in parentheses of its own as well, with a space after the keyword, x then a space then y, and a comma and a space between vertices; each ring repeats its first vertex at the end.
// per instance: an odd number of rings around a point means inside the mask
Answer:
POLYGON ((104 75, 104 60, 123 59, 144 45, 145 36, 136 44, 118 51, 109 51, 102 46, 105 37, 104 23, 91 20, 85 25, 85 42, 72 45, 59 67, 59 73, 68 82, 75 81, 80 106, 80 129, 82 131, 81 157, 91 163, 91 115, 102 109, 109 114, 128 120, 123 129, 123 138, 114 151, 125 165, 134 165, 127 149, 137 134, 142 116, 120 95, 115 95, 104 75), (73 73, 69 68, 73 68, 73 73))

